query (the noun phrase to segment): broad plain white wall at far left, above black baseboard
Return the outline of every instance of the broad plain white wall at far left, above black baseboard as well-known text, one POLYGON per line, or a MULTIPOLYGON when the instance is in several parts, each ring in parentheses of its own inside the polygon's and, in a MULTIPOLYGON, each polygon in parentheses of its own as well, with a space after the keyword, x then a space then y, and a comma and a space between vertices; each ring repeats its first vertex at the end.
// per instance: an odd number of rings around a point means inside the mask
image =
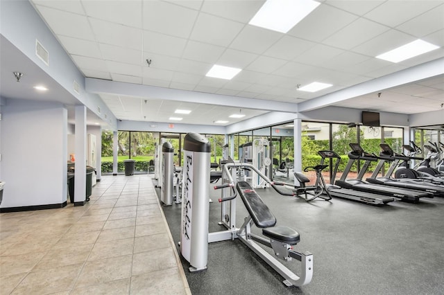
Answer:
POLYGON ((60 103, 8 100, 1 120, 1 208, 67 200, 67 109, 60 103))

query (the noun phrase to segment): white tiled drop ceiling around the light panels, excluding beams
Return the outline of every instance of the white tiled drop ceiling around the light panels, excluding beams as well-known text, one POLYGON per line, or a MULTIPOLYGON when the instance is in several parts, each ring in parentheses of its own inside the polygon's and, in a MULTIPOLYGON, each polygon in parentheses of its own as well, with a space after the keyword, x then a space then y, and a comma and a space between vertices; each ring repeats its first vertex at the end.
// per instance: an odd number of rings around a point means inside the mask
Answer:
MULTIPOLYGON (((248 98, 301 103, 444 57, 444 1, 325 0, 287 34, 248 24, 264 1, 31 0, 87 78, 239 98, 243 107, 99 93, 121 120, 214 125, 264 114, 248 98), (394 64, 375 56, 423 39, 440 48, 394 64), (150 64, 147 60, 151 60, 150 64), (205 77, 213 64, 242 71, 205 77), (316 93, 298 85, 325 82, 316 93), (243 112, 244 118, 228 118, 243 112)), ((415 114, 441 109, 444 75, 336 102, 415 114), (378 93, 381 93, 378 95, 378 93)), ((327 104, 326 104, 327 105, 327 104)))

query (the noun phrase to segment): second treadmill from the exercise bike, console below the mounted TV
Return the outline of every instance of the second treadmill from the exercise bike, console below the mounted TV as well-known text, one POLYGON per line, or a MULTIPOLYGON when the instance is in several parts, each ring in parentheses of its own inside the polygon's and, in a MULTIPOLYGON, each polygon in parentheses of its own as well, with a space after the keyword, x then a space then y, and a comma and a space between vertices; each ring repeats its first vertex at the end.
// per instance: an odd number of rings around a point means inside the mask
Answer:
POLYGON ((349 161, 341 179, 336 180, 335 184, 341 186, 341 188, 350 188, 352 190, 359 190, 366 193, 376 193, 378 195, 387 195, 389 197, 394 197, 403 202, 418 203, 421 197, 433 197, 432 193, 421 192, 420 190, 410 190, 407 188, 395 188, 393 186, 383 186, 380 184, 369 184, 362 180, 364 174, 366 173, 370 162, 378 161, 378 157, 375 154, 368 154, 364 152, 361 145, 358 143, 350 143, 352 152, 348 153, 349 161), (350 172, 353 163, 355 161, 363 160, 364 166, 359 170, 357 179, 347 179, 347 175, 350 172))

